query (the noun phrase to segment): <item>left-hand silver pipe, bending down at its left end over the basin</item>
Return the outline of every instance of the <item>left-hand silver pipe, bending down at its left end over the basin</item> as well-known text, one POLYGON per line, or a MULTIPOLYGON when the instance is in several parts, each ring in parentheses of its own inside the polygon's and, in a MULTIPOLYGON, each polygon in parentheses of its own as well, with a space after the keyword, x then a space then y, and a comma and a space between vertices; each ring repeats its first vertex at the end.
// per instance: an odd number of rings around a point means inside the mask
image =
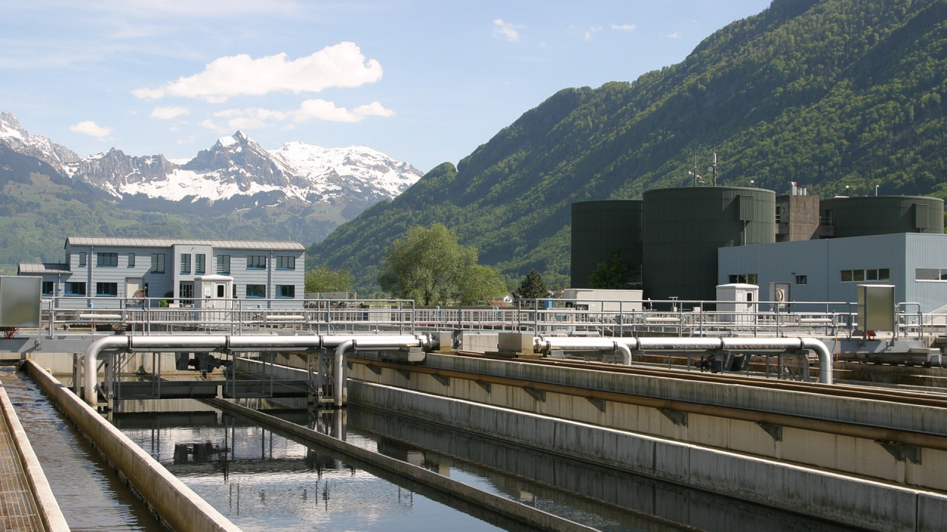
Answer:
MULTIPOLYGON (((82 399, 96 406, 96 380, 98 378, 98 355, 102 351, 129 350, 145 351, 153 349, 185 350, 194 348, 211 349, 271 349, 271 348, 319 348, 338 347, 347 342, 358 341, 360 346, 375 348, 430 347, 433 339, 428 336, 408 334, 366 334, 348 336, 318 335, 167 335, 167 336, 105 336, 94 341, 85 349, 82 399)), ((354 344, 350 345, 354 346, 354 344)), ((348 346, 347 346, 348 348, 348 346)), ((342 357, 345 349, 336 349, 336 397, 341 398, 345 381, 339 381, 344 369, 342 357)), ((337 399, 339 400, 339 399, 337 399)), ((340 404, 341 405, 341 404, 340 404)))

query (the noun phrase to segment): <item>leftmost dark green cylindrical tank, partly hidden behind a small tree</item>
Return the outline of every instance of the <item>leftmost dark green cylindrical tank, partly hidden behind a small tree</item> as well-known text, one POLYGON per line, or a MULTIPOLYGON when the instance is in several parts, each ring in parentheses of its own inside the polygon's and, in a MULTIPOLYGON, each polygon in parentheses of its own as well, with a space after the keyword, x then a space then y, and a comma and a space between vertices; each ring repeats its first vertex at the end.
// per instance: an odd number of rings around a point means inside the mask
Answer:
POLYGON ((640 272, 641 205, 641 200, 572 204, 572 288, 592 288, 589 277, 616 253, 640 272))

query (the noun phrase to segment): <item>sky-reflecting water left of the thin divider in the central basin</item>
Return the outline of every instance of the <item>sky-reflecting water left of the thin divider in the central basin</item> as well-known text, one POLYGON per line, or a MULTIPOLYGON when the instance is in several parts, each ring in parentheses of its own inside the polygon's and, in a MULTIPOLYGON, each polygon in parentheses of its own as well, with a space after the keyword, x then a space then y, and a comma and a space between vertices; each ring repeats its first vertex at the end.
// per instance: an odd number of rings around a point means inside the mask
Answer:
MULTIPOLYGON (((329 434, 336 428, 334 434, 342 434, 344 426, 334 424, 338 412, 278 414, 329 434)), ((439 531, 444 523, 477 532, 509 529, 441 505, 356 468, 331 452, 240 417, 116 412, 113 422, 247 532, 439 531)))

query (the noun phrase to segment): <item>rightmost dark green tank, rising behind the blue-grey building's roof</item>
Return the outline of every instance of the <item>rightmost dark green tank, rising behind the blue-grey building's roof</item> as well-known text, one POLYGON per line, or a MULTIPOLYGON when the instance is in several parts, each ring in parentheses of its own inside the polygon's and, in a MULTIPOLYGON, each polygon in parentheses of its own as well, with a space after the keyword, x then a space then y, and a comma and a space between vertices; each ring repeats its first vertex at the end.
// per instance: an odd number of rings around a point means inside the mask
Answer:
POLYGON ((819 216, 834 226, 836 239, 944 232, 944 201, 927 196, 827 198, 819 202, 819 216))

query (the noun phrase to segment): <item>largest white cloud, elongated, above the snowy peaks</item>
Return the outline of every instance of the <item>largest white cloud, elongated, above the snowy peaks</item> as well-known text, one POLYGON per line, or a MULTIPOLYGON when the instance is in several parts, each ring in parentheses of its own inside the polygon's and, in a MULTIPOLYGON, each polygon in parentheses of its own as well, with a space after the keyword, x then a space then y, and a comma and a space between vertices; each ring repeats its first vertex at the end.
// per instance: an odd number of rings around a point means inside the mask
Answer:
POLYGON ((173 96, 220 103, 235 96, 263 96, 277 91, 299 94, 328 87, 358 87, 381 78, 379 62, 366 60, 354 43, 340 43, 295 61, 287 61, 285 53, 259 59, 246 54, 223 57, 209 62, 204 72, 157 89, 136 89, 132 94, 143 99, 173 96))

